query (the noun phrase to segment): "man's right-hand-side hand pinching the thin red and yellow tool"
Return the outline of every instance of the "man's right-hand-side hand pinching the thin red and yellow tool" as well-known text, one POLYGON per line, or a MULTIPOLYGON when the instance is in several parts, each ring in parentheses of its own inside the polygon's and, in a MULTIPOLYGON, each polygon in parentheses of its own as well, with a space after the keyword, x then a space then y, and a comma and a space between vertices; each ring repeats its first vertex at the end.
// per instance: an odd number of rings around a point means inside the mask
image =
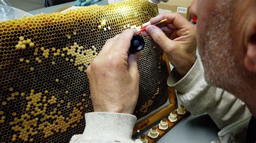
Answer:
POLYGON ((196 26, 178 13, 160 14, 145 26, 147 32, 143 34, 157 42, 179 74, 185 76, 196 62, 196 26), (165 18, 167 22, 159 25, 160 28, 151 25, 165 18))

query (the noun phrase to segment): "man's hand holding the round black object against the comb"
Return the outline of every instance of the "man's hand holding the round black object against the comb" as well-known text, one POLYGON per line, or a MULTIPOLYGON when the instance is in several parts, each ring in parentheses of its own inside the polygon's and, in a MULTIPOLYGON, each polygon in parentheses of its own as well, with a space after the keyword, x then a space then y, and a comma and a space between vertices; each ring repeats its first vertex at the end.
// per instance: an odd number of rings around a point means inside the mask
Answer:
POLYGON ((137 60, 142 53, 127 54, 137 30, 126 30, 107 40, 87 68, 95 112, 132 114, 139 95, 137 60))

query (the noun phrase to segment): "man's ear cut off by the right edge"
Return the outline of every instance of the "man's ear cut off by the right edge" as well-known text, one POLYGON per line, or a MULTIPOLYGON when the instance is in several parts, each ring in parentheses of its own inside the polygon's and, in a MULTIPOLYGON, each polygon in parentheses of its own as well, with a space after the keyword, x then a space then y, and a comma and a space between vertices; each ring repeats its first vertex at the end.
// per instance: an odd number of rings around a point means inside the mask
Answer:
POLYGON ((247 70, 256 73, 256 25, 252 28, 252 34, 248 37, 247 52, 245 55, 245 67, 247 70))

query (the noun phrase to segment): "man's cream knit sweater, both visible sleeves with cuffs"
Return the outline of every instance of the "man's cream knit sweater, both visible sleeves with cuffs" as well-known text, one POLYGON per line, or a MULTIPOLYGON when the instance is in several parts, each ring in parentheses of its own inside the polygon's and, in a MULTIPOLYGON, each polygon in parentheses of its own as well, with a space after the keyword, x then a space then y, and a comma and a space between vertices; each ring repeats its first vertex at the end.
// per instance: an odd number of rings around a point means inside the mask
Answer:
MULTIPOLYGON (((221 130, 221 142, 245 142, 251 113, 244 102, 230 93, 206 83, 198 59, 183 78, 173 69, 167 84, 177 90, 178 98, 193 115, 207 112, 221 130)), ((137 118, 122 113, 94 112, 85 114, 83 134, 74 135, 70 142, 141 142, 132 140, 137 118)))

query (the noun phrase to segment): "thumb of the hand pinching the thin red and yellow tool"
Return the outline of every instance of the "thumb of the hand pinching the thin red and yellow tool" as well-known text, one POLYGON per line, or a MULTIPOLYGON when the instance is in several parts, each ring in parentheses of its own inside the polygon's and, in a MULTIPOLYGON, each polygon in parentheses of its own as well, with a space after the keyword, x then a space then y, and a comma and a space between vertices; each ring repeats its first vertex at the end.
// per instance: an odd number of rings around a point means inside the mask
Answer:
POLYGON ((149 25, 146 27, 147 33, 150 34, 152 39, 163 49, 168 52, 170 48, 174 47, 174 42, 166 37, 165 33, 157 26, 149 25))

